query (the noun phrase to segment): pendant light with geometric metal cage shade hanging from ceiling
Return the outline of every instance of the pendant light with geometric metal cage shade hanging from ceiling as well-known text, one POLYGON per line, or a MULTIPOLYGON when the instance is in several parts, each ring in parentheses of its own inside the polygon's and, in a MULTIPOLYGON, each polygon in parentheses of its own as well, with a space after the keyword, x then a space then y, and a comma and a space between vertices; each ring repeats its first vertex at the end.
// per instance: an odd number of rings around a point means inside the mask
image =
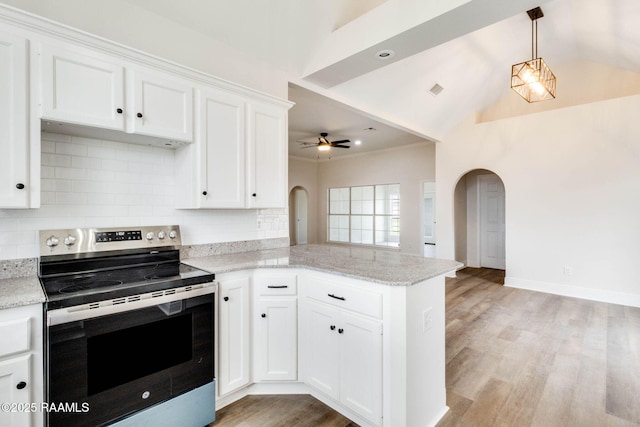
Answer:
POLYGON ((556 97, 556 76, 544 59, 538 57, 538 18, 544 14, 536 7, 527 11, 531 18, 531 60, 511 66, 511 89, 527 102, 556 97))

